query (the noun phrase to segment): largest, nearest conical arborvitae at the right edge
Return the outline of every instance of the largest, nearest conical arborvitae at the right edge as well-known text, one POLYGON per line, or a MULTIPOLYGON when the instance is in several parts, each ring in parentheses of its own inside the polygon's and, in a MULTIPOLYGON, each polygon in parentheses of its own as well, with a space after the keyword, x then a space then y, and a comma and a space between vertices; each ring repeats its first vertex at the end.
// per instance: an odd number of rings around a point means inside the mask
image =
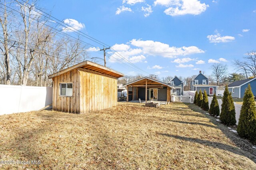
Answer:
POLYGON ((244 92, 243 100, 237 133, 243 138, 256 142, 256 108, 250 84, 244 92))

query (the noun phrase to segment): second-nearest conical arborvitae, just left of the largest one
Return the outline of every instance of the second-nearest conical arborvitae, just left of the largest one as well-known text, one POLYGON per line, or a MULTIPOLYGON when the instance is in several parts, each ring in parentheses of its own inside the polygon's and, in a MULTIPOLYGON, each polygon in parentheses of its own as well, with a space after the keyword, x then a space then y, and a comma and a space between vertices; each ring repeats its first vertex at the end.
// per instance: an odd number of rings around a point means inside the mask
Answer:
POLYGON ((228 91, 228 86, 224 90, 222 98, 220 121, 224 125, 236 125, 236 111, 231 93, 228 91))

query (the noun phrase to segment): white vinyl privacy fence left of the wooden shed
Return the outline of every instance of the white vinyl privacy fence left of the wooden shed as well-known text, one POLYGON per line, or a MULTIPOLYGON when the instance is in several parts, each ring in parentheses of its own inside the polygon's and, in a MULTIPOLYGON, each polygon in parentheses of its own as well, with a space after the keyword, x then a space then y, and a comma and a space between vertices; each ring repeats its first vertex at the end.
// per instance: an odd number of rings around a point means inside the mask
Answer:
POLYGON ((52 104, 52 87, 0 84, 0 115, 35 111, 52 104))

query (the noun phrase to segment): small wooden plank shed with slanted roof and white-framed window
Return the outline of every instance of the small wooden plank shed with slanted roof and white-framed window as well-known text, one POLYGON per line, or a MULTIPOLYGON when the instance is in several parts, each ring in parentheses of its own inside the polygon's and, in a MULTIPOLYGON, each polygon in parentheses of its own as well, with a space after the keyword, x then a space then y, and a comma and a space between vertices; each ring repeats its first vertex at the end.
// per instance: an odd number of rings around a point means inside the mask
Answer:
POLYGON ((52 109, 88 113, 117 105, 117 79, 124 74, 84 61, 48 76, 52 78, 52 109))

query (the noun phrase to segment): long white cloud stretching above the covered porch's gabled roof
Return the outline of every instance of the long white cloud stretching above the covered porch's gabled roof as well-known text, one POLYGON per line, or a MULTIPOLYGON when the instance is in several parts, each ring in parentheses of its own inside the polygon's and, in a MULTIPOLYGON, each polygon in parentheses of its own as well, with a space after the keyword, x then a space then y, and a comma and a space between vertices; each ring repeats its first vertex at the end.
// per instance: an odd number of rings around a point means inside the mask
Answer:
POLYGON ((132 39, 130 43, 136 47, 140 47, 142 49, 142 53, 152 56, 175 58, 176 56, 204 53, 203 50, 195 46, 177 48, 170 47, 168 44, 151 40, 142 41, 140 39, 132 39))

